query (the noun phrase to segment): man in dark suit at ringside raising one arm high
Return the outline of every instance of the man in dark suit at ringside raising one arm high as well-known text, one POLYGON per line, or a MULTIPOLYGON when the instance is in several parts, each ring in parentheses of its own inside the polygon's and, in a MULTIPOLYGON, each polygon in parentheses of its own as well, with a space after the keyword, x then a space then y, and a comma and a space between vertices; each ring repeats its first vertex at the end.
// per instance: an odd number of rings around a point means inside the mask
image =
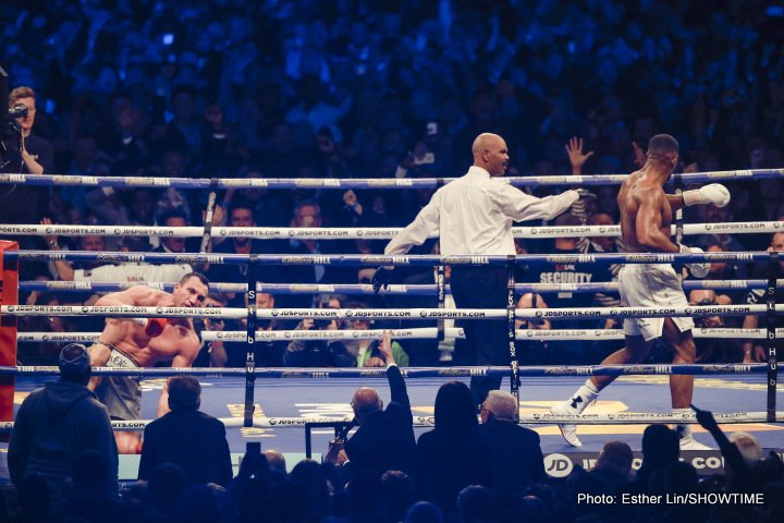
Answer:
POLYGON ((414 473, 416 440, 414 418, 405 381, 392 355, 392 332, 387 330, 379 350, 387 360, 392 401, 387 409, 376 389, 360 387, 354 392, 352 409, 359 428, 345 445, 347 465, 352 472, 370 470, 414 473))

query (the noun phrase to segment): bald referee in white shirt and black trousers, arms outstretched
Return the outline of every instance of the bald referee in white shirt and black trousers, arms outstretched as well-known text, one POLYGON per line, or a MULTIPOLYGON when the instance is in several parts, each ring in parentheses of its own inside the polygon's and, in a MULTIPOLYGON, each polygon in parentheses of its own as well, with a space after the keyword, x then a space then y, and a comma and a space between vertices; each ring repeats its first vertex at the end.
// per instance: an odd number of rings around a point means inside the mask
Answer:
MULTIPOLYGON (((407 253, 439 233, 441 254, 514 255, 512 223, 538 218, 552 219, 579 198, 576 191, 537 198, 498 180, 509 167, 506 142, 482 133, 471 146, 474 165, 468 172, 439 188, 414 221, 387 245, 384 254, 407 253)), ((373 288, 390 281, 390 271, 380 268, 373 288)), ((452 295, 457 308, 506 308, 506 269, 503 266, 454 266, 452 295)), ((465 321, 465 335, 475 365, 507 365, 506 324, 500 320, 465 321)), ((490 390, 501 386, 499 377, 471 378, 471 393, 478 406, 490 390)))

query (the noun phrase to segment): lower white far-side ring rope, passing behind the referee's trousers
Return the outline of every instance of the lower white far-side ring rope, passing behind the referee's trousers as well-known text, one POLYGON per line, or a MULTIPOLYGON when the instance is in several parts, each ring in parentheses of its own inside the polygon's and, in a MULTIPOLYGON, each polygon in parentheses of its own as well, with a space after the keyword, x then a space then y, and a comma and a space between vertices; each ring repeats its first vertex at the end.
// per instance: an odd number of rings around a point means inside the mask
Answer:
MULTIPOLYGON (((258 330, 256 341, 346 341, 346 340, 380 340, 384 330, 258 330)), ((395 340, 432 340, 439 337, 438 328, 425 327, 416 329, 392 329, 395 340)), ((19 332, 16 341, 20 343, 33 342, 91 342, 100 338, 100 332, 19 332)), ((763 340, 768 338, 765 329, 734 329, 734 328, 695 328, 693 335, 697 339, 747 339, 763 340)), ((515 331, 517 341, 537 340, 581 340, 581 341, 615 341, 623 340, 620 329, 520 329, 515 331)), ((463 329, 456 327, 444 328, 445 339, 465 339, 463 329)), ((776 329, 776 338, 784 338, 784 328, 776 329)), ((246 331, 203 330, 201 341, 247 342, 246 331)))

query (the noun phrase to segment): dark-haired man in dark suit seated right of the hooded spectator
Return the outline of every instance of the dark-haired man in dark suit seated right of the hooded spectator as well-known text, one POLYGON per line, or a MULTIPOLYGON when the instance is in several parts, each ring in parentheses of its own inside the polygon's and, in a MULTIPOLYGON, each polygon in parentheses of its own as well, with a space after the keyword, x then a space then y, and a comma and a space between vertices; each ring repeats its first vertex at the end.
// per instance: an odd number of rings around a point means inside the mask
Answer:
POLYGON ((174 376, 167 388, 171 411, 145 428, 139 479, 147 479, 160 463, 174 463, 194 484, 225 487, 232 478, 225 427, 198 410, 201 386, 192 376, 174 376))

